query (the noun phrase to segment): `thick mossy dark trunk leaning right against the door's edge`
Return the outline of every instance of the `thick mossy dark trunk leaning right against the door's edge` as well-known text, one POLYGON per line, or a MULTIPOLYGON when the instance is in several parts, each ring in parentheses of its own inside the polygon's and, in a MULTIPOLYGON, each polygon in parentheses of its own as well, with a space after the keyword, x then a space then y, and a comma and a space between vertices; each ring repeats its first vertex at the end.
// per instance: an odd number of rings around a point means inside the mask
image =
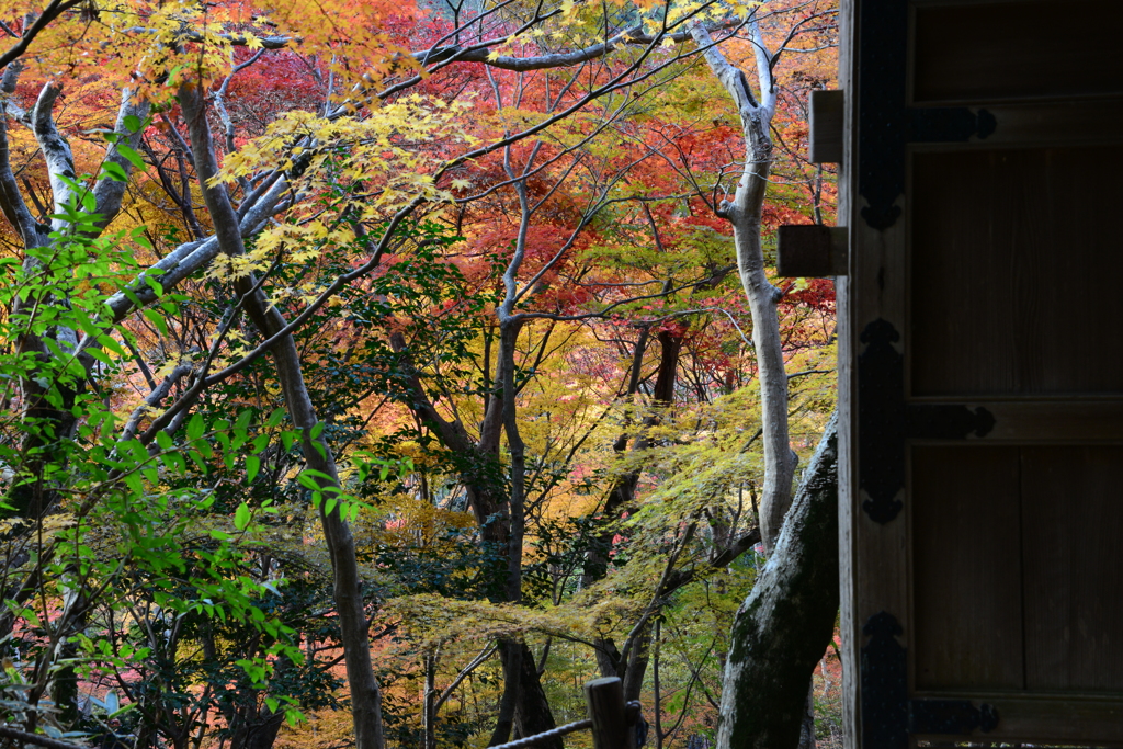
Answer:
POLYGON ((718 749, 795 747, 807 676, 839 606, 838 413, 803 475, 773 556, 733 623, 718 749))

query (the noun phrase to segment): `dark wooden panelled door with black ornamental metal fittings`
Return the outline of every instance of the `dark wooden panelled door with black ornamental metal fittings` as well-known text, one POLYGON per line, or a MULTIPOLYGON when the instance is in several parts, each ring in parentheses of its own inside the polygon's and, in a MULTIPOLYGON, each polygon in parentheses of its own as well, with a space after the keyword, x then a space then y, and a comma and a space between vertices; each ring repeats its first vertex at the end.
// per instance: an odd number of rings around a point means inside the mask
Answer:
POLYGON ((1123 3, 842 25, 848 740, 1123 746, 1123 3))

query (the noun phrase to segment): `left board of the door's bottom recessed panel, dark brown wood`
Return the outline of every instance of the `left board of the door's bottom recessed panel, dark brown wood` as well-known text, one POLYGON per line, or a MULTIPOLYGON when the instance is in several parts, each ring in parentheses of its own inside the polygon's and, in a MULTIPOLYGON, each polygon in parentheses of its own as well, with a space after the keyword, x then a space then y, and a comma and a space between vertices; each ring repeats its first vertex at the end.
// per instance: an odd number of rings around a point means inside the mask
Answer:
POLYGON ((1020 689, 1019 448, 913 447, 917 689, 1020 689))

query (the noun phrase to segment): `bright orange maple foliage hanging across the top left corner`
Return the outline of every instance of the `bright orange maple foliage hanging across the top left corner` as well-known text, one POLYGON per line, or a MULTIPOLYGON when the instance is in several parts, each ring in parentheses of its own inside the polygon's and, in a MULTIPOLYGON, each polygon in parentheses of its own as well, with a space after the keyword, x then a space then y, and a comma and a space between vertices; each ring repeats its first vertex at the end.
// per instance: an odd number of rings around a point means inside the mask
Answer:
MULTIPOLYGON (((0 18, 18 31, 39 4, 6 0, 0 18)), ((330 64, 346 93, 413 65, 395 39, 414 16, 411 4, 385 0, 118 0, 63 13, 30 52, 44 76, 98 75, 107 86, 139 86, 158 100, 161 89, 183 80, 220 81, 235 48, 293 46, 330 64)))

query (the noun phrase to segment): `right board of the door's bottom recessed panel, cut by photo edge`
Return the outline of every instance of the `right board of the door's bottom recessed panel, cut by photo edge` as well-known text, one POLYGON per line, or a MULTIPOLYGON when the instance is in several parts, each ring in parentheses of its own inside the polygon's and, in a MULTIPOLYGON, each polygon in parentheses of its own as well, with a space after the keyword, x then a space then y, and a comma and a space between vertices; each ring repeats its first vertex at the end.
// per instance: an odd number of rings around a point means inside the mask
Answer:
POLYGON ((1022 496, 1029 688, 1123 692, 1123 447, 1022 448, 1022 496))

